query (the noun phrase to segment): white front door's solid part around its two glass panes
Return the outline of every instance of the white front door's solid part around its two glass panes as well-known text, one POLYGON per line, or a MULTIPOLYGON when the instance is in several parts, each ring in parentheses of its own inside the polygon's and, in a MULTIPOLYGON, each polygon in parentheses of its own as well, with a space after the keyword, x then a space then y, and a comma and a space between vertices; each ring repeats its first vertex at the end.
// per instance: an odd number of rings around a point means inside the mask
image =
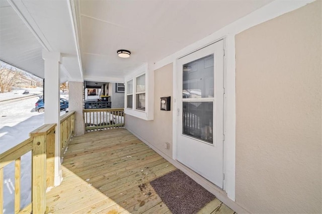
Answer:
POLYGON ((178 115, 178 132, 177 132, 177 160, 219 188, 223 188, 223 40, 212 43, 198 51, 186 55, 177 60, 176 73, 181 76, 178 78, 177 102, 179 111, 178 115), (182 97, 183 71, 182 63, 192 62, 198 58, 204 58, 213 54, 213 75, 214 75, 214 97, 189 98, 182 97), (179 64, 178 64, 179 63, 179 64), (208 144, 201 139, 195 139, 191 136, 182 134, 182 103, 184 101, 210 101, 213 103, 213 143, 208 144), (181 139, 181 140, 180 140, 181 139), (185 142, 185 143, 183 143, 185 142), (199 142, 199 143, 197 143, 199 142), (208 145, 207 145, 208 144, 208 145), (179 149, 180 148, 180 149, 179 149), (195 158, 191 159, 186 156, 187 153, 196 151, 195 158), (199 152, 197 152, 199 151, 199 152), (202 154, 202 155, 201 155, 202 154), (201 156, 200 156, 201 155, 201 156), (208 164, 204 164, 206 161, 208 164))

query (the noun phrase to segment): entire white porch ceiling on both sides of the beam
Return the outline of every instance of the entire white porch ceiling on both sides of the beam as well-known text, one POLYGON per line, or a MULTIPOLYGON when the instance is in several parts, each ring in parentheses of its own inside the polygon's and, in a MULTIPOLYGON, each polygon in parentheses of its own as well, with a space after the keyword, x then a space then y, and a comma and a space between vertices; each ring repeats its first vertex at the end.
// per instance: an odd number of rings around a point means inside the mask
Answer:
POLYGON ((46 49, 61 81, 121 81, 271 1, 0 1, 0 59, 43 77, 46 49))

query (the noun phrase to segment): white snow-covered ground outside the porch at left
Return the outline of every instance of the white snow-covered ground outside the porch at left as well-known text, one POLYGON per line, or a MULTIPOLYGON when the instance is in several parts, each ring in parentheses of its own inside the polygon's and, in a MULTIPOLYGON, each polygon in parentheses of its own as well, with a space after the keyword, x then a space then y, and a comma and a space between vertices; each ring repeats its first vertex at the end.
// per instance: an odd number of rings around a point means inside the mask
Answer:
MULTIPOLYGON (((1 98, 16 98, 15 92, 0 94, 1 98)), ((68 99, 68 93, 61 94, 68 99)), ((34 111, 38 97, 0 102, 0 153, 22 143, 29 133, 44 124, 44 113, 34 111)), ((64 114, 65 112, 61 112, 64 114)), ((15 165, 4 168, 4 213, 14 213, 15 165)), ((21 207, 31 201, 31 153, 21 158, 21 207)))

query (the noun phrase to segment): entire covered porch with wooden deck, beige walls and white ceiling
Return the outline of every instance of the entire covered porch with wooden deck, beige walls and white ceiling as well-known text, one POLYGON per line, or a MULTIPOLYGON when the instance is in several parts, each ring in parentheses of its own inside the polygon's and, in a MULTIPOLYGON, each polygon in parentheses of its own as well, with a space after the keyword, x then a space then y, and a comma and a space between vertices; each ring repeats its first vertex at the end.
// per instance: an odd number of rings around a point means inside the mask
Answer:
POLYGON ((15 213, 170 212, 149 182, 176 166, 224 202, 202 213, 320 213, 321 6, 0 1, 0 60, 44 78, 46 94, 45 125, 0 154, 0 189, 14 162, 15 213), (69 114, 60 118, 64 81, 69 114), (124 112, 86 115, 88 81, 123 84, 124 112), (191 103, 200 108, 187 116, 191 103), (206 111, 210 120, 195 113, 206 111), (186 135, 184 117, 198 130, 186 135), (25 206, 21 156, 30 151, 25 206))

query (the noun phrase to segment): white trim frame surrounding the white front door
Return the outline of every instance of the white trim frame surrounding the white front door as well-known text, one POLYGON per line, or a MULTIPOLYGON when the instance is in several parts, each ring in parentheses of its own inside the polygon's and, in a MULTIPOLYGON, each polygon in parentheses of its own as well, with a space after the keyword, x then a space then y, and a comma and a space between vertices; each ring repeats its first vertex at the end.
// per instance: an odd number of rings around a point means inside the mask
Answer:
MULTIPOLYGON (((224 123, 224 127, 223 127, 223 131, 224 131, 224 135, 225 135, 225 140, 224 140, 224 144, 223 144, 223 173, 225 174, 225 178, 223 180, 223 190, 225 190, 227 192, 227 196, 234 200, 234 196, 235 196, 235 180, 234 180, 234 176, 235 176, 235 73, 226 73, 227 70, 227 61, 228 59, 233 60, 233 64, 234 64, 234 37, 233 36, 225 36, 225 37, 221 37, 218 38, 216 40, 213 40, 212 42, 203 45, 191 52, 188 52, 180 57, 177 57, 176 60, 173 61, 173 79, 174 79, 174 85, 173 85, 173 96, 174 96, 174 103, 173 103, 173 154, 172 157, 174 160, 177 161, 177 126, 179 126, 178 124, 178 93, 177 91, 180 89, 180 85, 178 84, 179 78, 181 78, 181 76, 179 75, 177 71, 177 60, 189 55, 195 51, 198 51, 208 45, 211 45, 213 43, 216 43, 220 40, 223 40, 223 47, 224 47, 224 65, 223 65, 223 72, 224 72, 224 87, 225 87, 225 95, 224 95, 224 106, 223 106, 223 123, 224 123), (227 43, 229 44, 229 47, 233 49, 233 51, 231 51, 230 53, 227 53, 227 43), (227 54, 228 58, 227 59, 227 54), (233 57, 232 57, 233 56, 233 57), (227 84, 227 81, 230 81, 229 84, 227 84), (227 104, 229 104, 229 108, 227 108, 227 104), (228 112, 228 114, 227 114, 228 112), (229 136, 229 141, 233 143, 231 143, 229 145, 229 148, 227 148, 227 138, 229 136), (229 157, 229 159, 227 159, 227 157, 229 157), (228 161, 229 160, 229 161, 228 161), (230 167, 230 169, 227 170, 227 167, 230 167)), ((229 49, 230 50, 230 49, 229 49)), ((232 61, 230 61, 230 63, 232 63, 232 61)), ((233 68, 234 70, 234 68, 233 68)), ((179 113, 180 114, 180 113, 179 113)), ((201 176, 200 176, 201 177, 201 176)), ((215 186, 215 185, 214 185, 215 186)), ((218 188, 218 187, 216 187, 218 188)), ((218 190, 220 190, 218 188, 218 190)))

